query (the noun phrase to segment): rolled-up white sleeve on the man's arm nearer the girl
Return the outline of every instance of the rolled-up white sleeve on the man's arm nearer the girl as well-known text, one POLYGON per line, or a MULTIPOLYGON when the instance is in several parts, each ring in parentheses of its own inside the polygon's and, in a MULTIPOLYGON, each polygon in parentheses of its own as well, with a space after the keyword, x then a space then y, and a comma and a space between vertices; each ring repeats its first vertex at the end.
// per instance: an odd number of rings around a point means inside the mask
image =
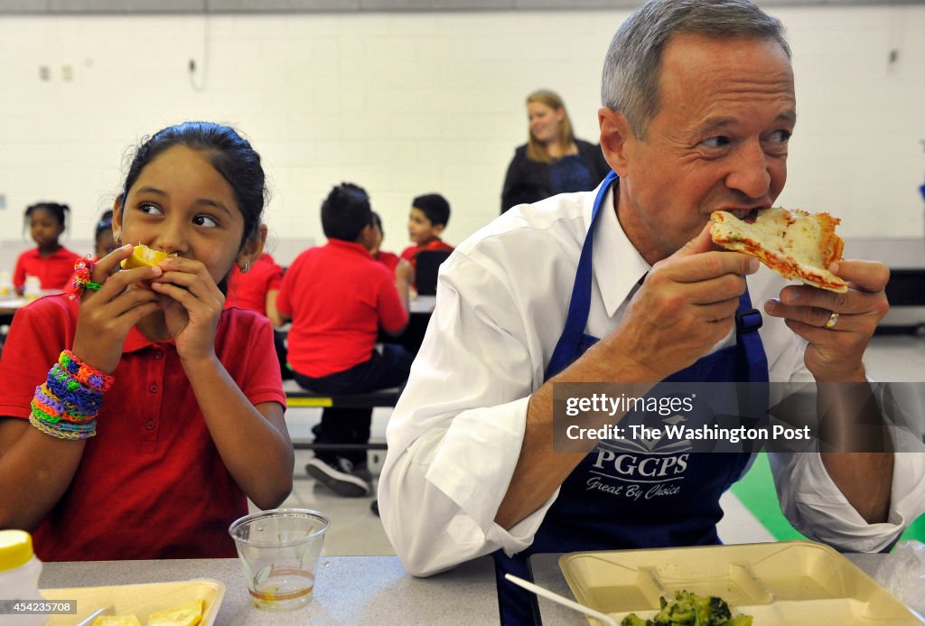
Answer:
MULTIPOLYGON (((542 355, 520 328, 500 276, 455 255, 408 385, 388 423, 379 511, 405 568, 427 576, 502 548, 529 546, 555 496, 505 530, 494 522, 524 439, 542 355), (461 267, 462 265, 462 267, 461 267), (439 341, 428 340, 438 333, 439 341), (534 353, 531 353, 534 352, 534 353)), ((442 274, 442 270, 441 270, 442 274)))

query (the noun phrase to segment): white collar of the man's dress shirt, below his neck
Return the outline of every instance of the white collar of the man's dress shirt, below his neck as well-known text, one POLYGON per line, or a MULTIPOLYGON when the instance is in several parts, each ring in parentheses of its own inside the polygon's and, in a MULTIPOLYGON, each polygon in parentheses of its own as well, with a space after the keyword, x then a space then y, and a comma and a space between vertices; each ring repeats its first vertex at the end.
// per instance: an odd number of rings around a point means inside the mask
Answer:
MULTIPOLYGON (((626 237, 623 227, 617 220, 613 193, 618 184, 619 182, 615 182, 611 185, 600 207, 601 215, 598 216, 598 223, 594 229, 592 258, 594 280, 598 285, 607 314, 611 317, 620 305, 633 295, 640 278, 646 276, 651 269, 651 265, 646 263, 646 260, 626 237)), ((589 194, 590 201, 585 207, 586 224, 591 222, 591 210, 597 195, 597 191, 589 194)))

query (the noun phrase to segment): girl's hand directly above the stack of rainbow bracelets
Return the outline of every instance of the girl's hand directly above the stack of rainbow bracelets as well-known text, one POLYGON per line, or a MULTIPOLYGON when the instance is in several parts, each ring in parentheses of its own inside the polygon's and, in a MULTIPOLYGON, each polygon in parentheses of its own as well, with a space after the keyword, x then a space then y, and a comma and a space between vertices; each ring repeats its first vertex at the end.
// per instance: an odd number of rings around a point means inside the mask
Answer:
POLYGON ((106 254, 94 266, 91 280, 98 291, 85 289, 80 296, 77 334, 71 349, 80 361, 112 374, 122 358, 122 346, 132 326, 159 308, 157 294, 139 283, 163 274, 159 267, 136 267, 117 271, 129 258, 127 244, 106 254))

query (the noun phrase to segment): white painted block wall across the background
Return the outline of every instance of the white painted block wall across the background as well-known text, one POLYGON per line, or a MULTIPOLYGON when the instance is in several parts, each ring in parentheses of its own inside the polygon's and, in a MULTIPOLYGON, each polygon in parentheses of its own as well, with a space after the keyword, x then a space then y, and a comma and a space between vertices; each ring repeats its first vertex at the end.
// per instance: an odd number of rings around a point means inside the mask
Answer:
MULTIPOLYGON (((925 7, 769 10, 788 27, 800 117, 781 203, 841 215, 847 237, 920 237, 925 7)), ((388 249, 407 244, 411 198, 434 190, 457 242, 498 214, 527 92, 561 92, 577 134, 596 138, 600 66, 626 15, 2 17, 0 239, 21 239, 41 199, 69 203, 71 237, 88 239, 127 147, 209 118, 264 156, 278 238, 323 240, 318 206, 351 180, 383 215, 388 249)))

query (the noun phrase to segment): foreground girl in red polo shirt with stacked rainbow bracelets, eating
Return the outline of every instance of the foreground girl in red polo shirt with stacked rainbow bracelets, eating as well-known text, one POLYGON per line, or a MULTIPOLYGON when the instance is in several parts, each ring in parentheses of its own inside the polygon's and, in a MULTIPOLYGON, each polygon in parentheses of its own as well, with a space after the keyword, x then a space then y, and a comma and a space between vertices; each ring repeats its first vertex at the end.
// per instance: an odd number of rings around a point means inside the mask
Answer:
POLYGON ((272 327, 222 306, 232 265, 263 248, 264 179, 233 129, 155 133, 113 231, 175 255, 117 271, 122 246, 79 272, 74 299, 16 314, 0 362, 0 527, 32 530, 39 558, 230 558, 248 498, 270 509, 289 495, 272 327))

